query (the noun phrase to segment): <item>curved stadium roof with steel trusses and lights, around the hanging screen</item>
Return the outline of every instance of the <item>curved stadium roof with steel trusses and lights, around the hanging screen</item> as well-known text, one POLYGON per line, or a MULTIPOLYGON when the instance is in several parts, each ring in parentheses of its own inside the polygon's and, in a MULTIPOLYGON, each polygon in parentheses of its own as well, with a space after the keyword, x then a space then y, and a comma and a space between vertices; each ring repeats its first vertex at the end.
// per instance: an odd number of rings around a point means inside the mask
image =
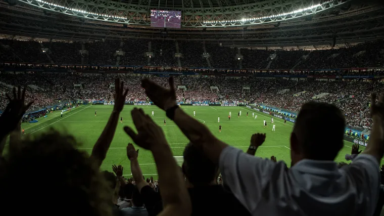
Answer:
POLYGON ((0 34, 47 40, 152 38, 321 49, 333 40, 342 46, 384 38, 384 6, 369 0, 1 0, 0 10, 0 34), (180 10, 181 29, 150 27, 151 9, 180 10))

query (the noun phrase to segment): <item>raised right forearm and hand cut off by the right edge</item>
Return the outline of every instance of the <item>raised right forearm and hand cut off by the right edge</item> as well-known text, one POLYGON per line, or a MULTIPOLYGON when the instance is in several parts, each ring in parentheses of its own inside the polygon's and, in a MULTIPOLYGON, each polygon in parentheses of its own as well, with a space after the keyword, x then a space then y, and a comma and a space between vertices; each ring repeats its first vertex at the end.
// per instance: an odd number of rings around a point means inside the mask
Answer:
POLYGON ((376 94, 371 95, 372 131, 367 148, 362 154, 369 154, 376 158, 378 164, 384 155, 384 93, 381 93, 376 103, 376 94))

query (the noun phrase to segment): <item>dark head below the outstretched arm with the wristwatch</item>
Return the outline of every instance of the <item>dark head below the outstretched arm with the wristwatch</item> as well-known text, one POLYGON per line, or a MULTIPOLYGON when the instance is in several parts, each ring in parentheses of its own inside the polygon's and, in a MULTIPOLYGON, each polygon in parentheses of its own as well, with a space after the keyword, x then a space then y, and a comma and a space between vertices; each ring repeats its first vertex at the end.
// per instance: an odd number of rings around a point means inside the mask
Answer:
POLYGON ((218 166, 208 159, 200 149, 189 143, 184 149, 182 170, 190 186, 215 184, 218 166))

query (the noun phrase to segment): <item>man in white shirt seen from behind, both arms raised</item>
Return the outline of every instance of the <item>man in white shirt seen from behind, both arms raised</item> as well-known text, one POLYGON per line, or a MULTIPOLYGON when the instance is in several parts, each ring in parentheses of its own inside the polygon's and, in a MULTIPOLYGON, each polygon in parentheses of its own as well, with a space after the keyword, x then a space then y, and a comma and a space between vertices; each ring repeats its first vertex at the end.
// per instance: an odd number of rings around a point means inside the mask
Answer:
MULTIPOLYGON (((384 94, 377 104, 372 95, 373 128, 367 148, 340 169, 333 160, 344 146, 342 111, 326 103, 304 104, 291 133, 289 169, 282 161, 254 157, 214 137, 204 124, 174 108, 174 87, 168 90, 149 79, 142 83, 147 95, 167 111, 190 142, 219 164, 225 185, 251 214, 373 214, 379 193, 378 166, 384 155, 384 94), (318 136, 323 128, 327 136, 318 136)), ((170 85, 174 85, 173 77, 170 85)))

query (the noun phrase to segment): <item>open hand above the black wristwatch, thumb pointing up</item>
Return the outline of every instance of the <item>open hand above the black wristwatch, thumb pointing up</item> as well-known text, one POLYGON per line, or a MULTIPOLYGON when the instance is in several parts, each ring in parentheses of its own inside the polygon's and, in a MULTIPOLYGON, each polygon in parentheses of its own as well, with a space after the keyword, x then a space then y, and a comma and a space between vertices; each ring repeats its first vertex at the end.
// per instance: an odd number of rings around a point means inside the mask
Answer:
POLYGON ((141 86, 145 89, 147 96, 163 110, 176 105, 176 91, 173 77, 169 77, 169 87, 166 89, 150 79, 141 80, 141 86))

